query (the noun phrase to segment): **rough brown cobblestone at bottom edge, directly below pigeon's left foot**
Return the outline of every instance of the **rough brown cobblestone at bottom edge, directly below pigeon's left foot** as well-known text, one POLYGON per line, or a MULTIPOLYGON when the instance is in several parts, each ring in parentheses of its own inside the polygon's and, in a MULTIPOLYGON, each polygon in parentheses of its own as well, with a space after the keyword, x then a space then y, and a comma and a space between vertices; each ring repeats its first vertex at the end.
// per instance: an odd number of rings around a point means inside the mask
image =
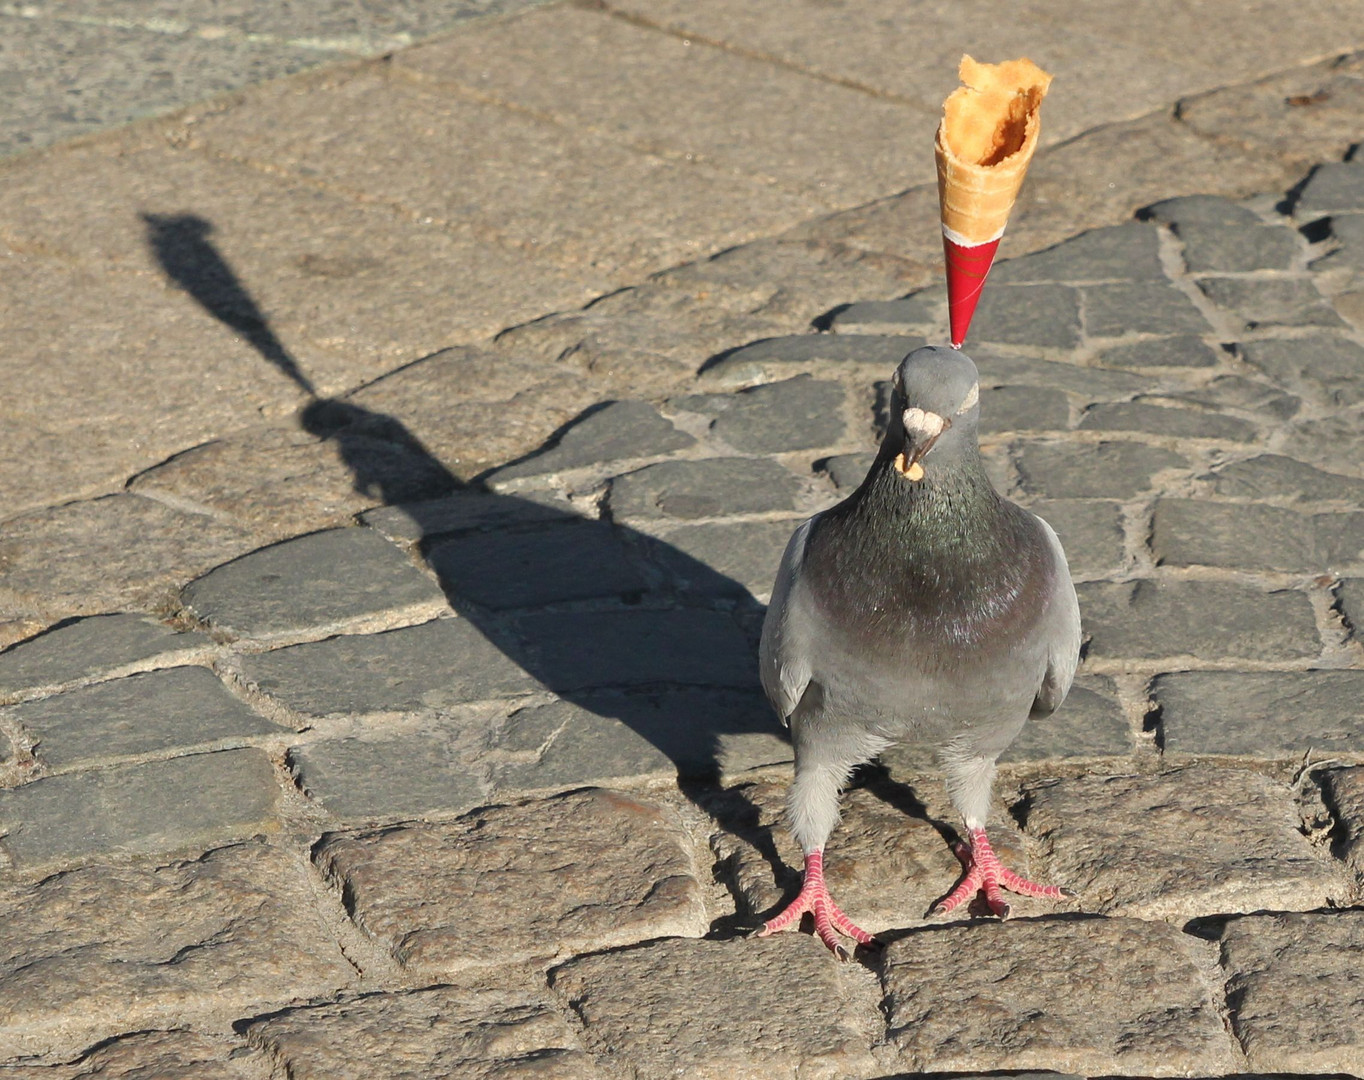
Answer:
POLYGON ((622 1076, 873 1076, 876 983, 805 934, 657 941, 555 968, 588 1049, 622 1076), (791 994, 790 987, 801 987, 791 994), (667 987, 660 993, 660 987, 667 987))

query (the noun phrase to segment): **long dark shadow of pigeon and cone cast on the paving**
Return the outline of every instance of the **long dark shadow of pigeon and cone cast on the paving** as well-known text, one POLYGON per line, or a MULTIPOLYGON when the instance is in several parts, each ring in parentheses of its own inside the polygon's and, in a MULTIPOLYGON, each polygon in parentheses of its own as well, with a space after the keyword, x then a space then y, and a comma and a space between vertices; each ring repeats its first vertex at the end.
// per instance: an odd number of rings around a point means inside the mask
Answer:
MULTIPOLYGON (((581 731, 618 745, 619 721, 672 761, 702 809, 730 736, 784 738, 758 693, 761 605, 743 585, 621 524, 465 484, 397 417, 319 395, 218 252, 213 224, 142 218, 170 281, 308 395, 300 425, 336 446, 357 492, 411 518, 450 605, 581 709, 581 731)), ((783 866, 775 845, 764 856, 783 866)))

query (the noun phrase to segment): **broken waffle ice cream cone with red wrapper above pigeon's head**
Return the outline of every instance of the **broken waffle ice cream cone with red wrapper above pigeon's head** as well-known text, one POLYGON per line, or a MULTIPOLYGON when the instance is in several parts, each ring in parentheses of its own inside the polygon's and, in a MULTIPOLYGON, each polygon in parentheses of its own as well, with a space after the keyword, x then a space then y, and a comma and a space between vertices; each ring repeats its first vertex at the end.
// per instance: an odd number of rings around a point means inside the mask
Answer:
POLYGON ((962 346, 1009 211, 1037 150, 1052 76, 1031 60, 962 57, 963 86, 943 104, 934 140, 952 345, 962 346))

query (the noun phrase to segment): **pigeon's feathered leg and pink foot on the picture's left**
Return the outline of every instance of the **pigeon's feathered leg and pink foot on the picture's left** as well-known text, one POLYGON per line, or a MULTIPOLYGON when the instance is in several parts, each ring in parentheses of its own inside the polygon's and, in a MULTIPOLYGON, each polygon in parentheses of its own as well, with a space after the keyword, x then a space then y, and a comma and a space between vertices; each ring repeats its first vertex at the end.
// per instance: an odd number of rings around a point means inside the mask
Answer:
POLYGON ((839 934, 846 934, 859 945, 876 944, 876 938, 844 915, 833 903, 824 881, 824 843, 837 824, 839 788, 843 787, 847 777, 848 768, 797 769, 795 781, 787 796, 787 815, 791 821, 791 832, 805 852, 801 892, 758 931, 758 937, 768 937, 782 930, 790 930, 799 925, 802 915, 809 912, 814 916, 814 933, 840 960, 847 960, 848 953, 839 941, 839 934))

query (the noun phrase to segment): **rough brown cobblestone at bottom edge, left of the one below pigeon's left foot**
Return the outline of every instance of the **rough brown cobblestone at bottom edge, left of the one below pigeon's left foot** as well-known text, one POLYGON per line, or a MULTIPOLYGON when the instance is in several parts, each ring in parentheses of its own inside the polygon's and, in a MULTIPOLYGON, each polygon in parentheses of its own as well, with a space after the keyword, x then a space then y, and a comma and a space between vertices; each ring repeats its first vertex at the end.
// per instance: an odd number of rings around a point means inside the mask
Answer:
POLYGON ((602 1076, 543 983, 520 972, 289 1009, 246 1031, 296 1080, 602 1076))

